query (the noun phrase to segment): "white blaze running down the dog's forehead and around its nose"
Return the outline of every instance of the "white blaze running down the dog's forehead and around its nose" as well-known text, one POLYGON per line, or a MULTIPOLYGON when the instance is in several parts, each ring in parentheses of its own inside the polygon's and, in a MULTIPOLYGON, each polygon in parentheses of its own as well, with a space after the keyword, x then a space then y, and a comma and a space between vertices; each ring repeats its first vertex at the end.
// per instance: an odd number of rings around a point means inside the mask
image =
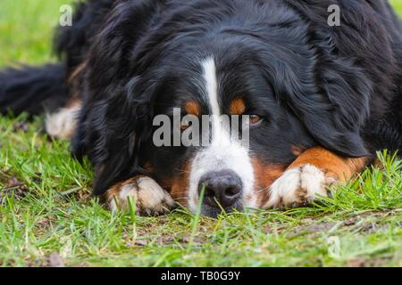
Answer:
POLYGON ((230 169, 241 178, 243 185, 243 206, 255 207, 254 172, 248 156, 248 149, 239 142, 230 140, 230 127, 222 124, 219 105, 219 84, 214 58, 201 62, 205 84, 205 101, 208 102, 212 116, 212 142, 197 152, 193 159, 189 177, 188 206, 195 211, 198 201, 198 183, 200 178, 214 171, 230 169), (248 199, 246 199, 248 197, 248 199))

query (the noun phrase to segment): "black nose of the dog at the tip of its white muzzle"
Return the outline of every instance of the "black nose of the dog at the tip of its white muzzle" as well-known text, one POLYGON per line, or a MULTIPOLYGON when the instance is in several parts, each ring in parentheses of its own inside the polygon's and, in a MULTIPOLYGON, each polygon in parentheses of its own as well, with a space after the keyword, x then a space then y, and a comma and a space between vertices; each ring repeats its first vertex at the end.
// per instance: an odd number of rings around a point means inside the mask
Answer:
POLYGON ((231 170, 209 172, 203 175, 198 183, 198 192, 204 191, 205 204, 218 208, 230 208, 241 196, 241 179, 231 170))

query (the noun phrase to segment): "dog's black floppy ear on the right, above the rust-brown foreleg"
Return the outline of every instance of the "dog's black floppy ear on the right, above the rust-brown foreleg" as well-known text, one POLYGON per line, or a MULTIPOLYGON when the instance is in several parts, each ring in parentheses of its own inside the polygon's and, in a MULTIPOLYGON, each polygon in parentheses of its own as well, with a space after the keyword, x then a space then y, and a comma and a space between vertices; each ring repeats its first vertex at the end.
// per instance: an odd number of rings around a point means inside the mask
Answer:
POLYGON ((275 80, 284 82, 283 103, 314 139, 344 157, 367 156, 360 130, 369 116, 372 86, 364 71, 330 54, 315 62, 314 72, 296 74, 295 69, 280 68, 281 78, 275 80))

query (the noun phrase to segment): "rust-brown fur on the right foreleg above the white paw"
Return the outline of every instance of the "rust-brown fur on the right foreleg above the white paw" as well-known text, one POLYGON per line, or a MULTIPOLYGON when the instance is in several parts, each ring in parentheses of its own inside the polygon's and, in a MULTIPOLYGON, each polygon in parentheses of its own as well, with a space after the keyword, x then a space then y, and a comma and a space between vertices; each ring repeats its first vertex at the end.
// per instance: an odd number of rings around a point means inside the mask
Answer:
POLYGON ((315 147, 303 152, 289 166, 289 169, 310 164, 321 169, 328 177, 348 182, 348 179, 363 171, 368 161, 369 159, 367 158, 343 158, 322 147, 315 147))

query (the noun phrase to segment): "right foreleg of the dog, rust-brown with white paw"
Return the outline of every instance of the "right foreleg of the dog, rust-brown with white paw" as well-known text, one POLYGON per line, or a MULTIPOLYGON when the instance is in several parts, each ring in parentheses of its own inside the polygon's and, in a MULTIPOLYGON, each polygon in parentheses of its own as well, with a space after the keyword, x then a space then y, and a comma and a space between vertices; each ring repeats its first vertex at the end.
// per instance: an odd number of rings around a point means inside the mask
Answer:
POLYGON ((331 184, 347 183, 366 167, 368 160, 342 158, 322 147, 305 151, 272 183, 264 208, 306 206, 315 194, 327 196, 331 184))

